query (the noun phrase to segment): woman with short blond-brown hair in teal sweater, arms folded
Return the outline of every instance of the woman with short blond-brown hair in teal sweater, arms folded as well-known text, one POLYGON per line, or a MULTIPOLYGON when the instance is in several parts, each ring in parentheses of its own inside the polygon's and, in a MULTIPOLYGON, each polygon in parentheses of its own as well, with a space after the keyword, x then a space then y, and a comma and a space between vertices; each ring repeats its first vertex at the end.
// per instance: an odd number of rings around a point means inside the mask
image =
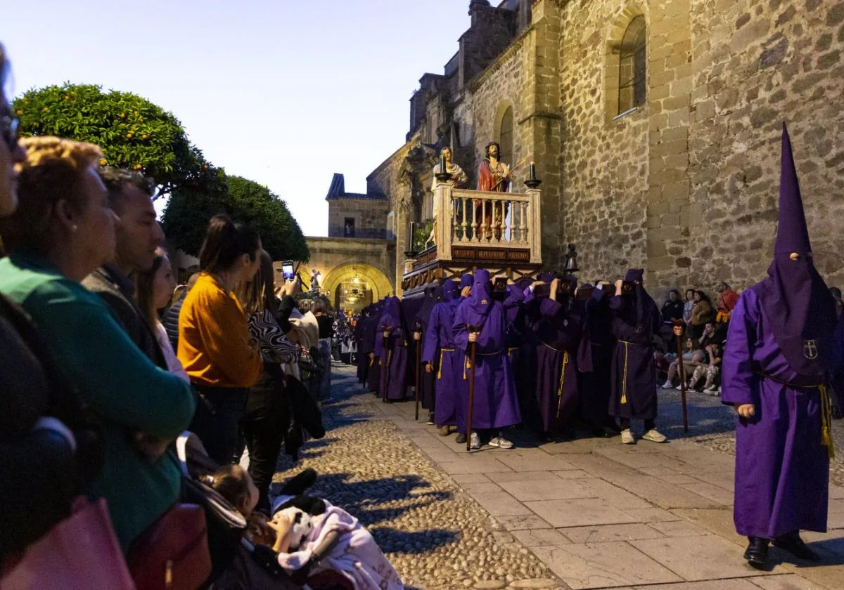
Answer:
POLYGON ((108 502, 122 549, 180 495, 168 458, 144 459, 130 434, 172 440, 191 420, 190 386, 146 357, 104 301, 79 284, 112 260, 115 215, 89 143, 57 137, 21 141, 19 207, 0 220, 8 258, 0 291, 30 314, 51 354, 101 421, 106 462, 93 484, 108 502))

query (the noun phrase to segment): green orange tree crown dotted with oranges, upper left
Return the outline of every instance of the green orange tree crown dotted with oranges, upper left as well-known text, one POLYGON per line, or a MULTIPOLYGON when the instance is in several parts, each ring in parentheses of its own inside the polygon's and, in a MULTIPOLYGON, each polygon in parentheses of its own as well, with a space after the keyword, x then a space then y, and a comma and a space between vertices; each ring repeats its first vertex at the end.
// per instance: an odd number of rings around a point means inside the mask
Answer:
POLYGON ((181 122, 137 94, 64 83, 30 90, 14 101, 14 110, 22 135, 95 143, 105 155, 100 164, 142 171, 161 193, 217 180, 181 122))

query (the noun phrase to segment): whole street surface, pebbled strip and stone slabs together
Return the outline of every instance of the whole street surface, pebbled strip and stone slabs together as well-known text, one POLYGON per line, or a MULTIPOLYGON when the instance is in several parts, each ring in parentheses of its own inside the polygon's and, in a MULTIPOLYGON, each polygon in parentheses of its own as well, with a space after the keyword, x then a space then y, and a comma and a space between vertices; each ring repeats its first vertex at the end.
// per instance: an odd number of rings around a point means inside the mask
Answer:
MULTIPOLYGON (((844 489, 830 490, 830 532, 805 534, 825 560, 771 550, 770 571, 742 560, 732 523, 733 419, 717 398, 660 394, 665 445, 582 438, 543 445, 518 430, 511 451, 467 455, 454 436, 414 421, 412 403, 384 405, 354 368, 334 364, 327 435, 295 468, 320 474, 314 493, 375 535, 410 588, 664 588, 784 590, 844 583, 844 489)), ((422 416, 420 416, 421 418, 422 416)), ((641 426, 640 426, 641 427, 641 426)), ((634 423, 634 428, 636 424, 634 423)), ((836 423, 838 448, 841 422, 836 423)), ((841 458, 833 465, 841 484, 841 458)))

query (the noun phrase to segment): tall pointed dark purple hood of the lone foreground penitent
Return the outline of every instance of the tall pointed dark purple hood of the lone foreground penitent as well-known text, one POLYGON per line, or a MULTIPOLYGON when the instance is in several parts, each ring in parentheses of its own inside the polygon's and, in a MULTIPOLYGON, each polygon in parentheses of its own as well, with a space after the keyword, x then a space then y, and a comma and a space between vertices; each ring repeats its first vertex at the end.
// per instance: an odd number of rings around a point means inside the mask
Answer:
POLYGON ((803 198, 794 168, 791 138, 782 124, 780 217, 774 260, 759 295, 776 343, 794 371, 806 377, 825 372, 824 346, 836 325, 835 301, 814 268, 803 198))

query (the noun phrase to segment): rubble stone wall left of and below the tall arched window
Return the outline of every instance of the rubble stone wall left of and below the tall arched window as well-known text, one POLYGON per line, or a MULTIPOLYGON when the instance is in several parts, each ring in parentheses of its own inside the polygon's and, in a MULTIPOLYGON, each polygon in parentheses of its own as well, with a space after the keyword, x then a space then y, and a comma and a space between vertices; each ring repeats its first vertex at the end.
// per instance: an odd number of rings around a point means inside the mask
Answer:
POLYGON ((588 280, 612 278, 647 260, 648 109, 607 115, 607 23, 625 3, 569 2, 560 13, 565 242, 577 245, 588 280))

